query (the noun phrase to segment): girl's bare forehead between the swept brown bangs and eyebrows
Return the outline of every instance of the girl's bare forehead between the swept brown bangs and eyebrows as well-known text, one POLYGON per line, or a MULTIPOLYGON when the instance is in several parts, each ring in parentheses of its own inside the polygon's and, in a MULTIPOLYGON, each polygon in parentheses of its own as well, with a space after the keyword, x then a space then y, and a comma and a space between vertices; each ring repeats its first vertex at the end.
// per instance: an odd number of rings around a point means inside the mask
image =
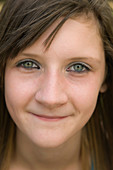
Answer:
MULTIPOLYGON (((52 26, 50 26, 50 28, 31 47, 27 48, 27 51, 32 50, 35 53, 46 51, 44 41, 61 20, 62 18, 52 24, 52 26)), ((78 51, 80 52, 80 48, 82 48, 82 51, 94 49, 92 51, 94 54, 100 49, 103 50, 103 43, 99 33, 99 24, 93 16, 90 18, 81 16, 68 19, 57 32, 47 51, 50 51, 51 49, 56 51, 57 49, 57 53, 72 53, 72 51, 77 53, 78 51)))

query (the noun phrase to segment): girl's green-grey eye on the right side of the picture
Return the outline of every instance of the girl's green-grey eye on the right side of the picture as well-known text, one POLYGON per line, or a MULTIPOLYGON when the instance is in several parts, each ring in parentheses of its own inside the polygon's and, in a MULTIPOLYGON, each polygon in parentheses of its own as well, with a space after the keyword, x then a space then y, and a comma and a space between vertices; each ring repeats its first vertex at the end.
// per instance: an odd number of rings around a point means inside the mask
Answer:
POLYGON ((77 73, 83 73, 89 70, 90 70, 90 67, 88 67, 87 64, 81 63, 81 62, 74 63, 67 68, 68 72, 77 72, 77 73))

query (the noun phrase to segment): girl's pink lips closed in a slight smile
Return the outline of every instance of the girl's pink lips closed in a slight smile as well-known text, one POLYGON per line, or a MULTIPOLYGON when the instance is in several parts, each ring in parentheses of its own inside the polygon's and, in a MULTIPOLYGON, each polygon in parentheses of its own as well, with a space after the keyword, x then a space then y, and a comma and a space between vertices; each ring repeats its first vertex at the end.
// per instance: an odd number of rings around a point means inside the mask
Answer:
POLYGON ((47 122, 56 122, 56 121, 60 121, 62 119, 66 119, 69 116, 46 116, 46 115, 36 115, 33 114, 34 116, 36 116, 38 119, 43 120, 43 121, 47 121, 47 122))

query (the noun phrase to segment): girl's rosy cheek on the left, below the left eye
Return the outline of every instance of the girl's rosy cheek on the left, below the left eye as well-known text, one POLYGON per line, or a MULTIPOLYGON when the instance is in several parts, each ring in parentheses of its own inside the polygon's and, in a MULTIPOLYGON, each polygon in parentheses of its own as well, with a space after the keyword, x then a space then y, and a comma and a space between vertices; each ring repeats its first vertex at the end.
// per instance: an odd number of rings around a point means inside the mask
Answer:
POLYGON ((34 95, 33 82, 21 79, 18 75, 5 74, 5 101, 10 113, 16 113, 31 100, 34 95))

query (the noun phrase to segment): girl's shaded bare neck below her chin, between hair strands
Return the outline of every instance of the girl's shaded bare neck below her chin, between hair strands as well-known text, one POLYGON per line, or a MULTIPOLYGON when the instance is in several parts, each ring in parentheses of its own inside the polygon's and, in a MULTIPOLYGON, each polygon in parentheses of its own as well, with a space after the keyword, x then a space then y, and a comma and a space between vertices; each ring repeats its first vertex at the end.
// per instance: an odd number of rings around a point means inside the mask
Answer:
POLYGON ((16 167, 22 170, 36 170, 37 167, 40 170, 81 169, 81 133, 55 148, 38 147, 19 131, 16 139, 16 151, 12 161, 15 170, 18 170, 16 167))

